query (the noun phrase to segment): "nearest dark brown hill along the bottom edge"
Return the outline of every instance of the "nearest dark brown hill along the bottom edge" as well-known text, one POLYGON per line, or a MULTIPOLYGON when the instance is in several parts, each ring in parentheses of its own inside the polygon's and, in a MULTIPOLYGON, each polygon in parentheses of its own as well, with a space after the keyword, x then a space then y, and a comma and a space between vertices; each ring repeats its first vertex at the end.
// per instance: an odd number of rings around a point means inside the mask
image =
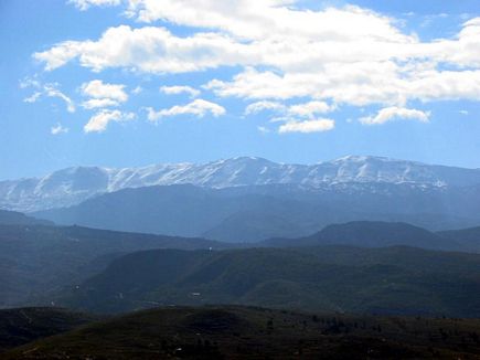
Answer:
POLYGON ((478 320, 163 308, 93 324, 3 359, 478 359, 478 320))

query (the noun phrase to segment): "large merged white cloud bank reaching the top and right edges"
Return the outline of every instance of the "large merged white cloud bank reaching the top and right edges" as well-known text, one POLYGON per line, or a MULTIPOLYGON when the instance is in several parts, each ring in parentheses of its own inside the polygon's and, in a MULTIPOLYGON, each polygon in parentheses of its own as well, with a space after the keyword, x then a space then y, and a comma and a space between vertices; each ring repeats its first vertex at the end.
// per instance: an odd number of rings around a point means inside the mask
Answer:
MULTIPOLYGON (((75 1, 81 9, 119 2, 75 1)), ((466 21, 454 36, 423 41, 397 19, 354 6, 307 10, 296 0, 121 3, 138 22, 169 22, 192 32, 120 25, 98 39, 61 42, 34 57, 46 71, 75 60, 94 72, 239 67, 232 78, 212 78, 204 88, 257 102, 301 98, 310 107, 295 105, 284 113, 309 119, 342 104, 407 108, 413 100, 480 100, 480 18, 466 21)), ((246 113, 256 110, 253 106, 246 113)))

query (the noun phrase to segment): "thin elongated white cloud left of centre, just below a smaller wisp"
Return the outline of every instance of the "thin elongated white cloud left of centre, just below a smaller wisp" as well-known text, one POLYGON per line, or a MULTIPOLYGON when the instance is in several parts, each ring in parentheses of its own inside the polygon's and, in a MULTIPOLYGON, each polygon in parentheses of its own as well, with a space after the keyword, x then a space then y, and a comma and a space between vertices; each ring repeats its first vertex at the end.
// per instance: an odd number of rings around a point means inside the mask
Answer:
POLYGON ((201 98, 198 98, 190 104, 180 106, 173 106, 168 109, 161 109, 159 112, 153 110, 151 107, 147 108, 148 119, 156 121, 161 117, 177 116, 177 115, 193 115, 196 117, 204 117, 207 113, 214 117, 222 116, 226 113, 225 108, 218 104, 211 103, 201 98))

